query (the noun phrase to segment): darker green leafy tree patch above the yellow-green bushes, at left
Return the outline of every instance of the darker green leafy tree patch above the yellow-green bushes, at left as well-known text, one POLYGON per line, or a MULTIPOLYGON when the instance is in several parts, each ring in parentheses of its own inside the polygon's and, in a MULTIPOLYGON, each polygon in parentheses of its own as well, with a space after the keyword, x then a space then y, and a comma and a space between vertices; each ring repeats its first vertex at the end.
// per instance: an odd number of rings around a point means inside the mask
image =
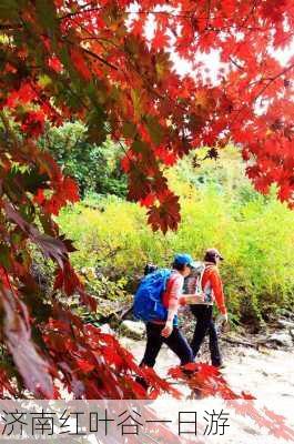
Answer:
POLYGON ((101 147, 91 143, 84 124, 75 121, 49 128, 41 144, 51 150, 64 174, 78 181, 82 196, 87 192, 126 194, 126 179, 120 169, 123 154, 120 148, 110 140, 101 147))

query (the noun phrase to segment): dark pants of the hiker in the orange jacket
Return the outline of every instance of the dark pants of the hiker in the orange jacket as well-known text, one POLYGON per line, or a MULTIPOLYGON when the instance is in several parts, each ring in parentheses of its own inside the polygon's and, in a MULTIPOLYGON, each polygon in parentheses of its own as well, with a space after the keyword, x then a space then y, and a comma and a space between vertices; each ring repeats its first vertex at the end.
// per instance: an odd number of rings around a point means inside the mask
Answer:
POLYGON ((191 342, 194 357, 196 357, 205 334, 210 335, 210 352, 212 365, 222 364, 221 352, 219 347, 217 333, 212 317, 212 305, 191 305, 191 311, 196 317, 196 326, 191 342))

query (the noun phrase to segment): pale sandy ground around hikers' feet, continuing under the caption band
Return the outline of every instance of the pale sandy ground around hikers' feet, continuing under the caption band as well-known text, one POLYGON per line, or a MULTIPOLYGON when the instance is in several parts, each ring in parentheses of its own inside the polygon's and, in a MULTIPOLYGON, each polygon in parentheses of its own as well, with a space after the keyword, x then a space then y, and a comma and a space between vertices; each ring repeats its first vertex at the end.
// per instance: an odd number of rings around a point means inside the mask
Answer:
MULTIPOLYGON (((247 337, 246 337, 247 339, 247 337)), ((140 362, 144 352, 144 341, 134 341, 128 337, 120 337, 120 342, 132 352, 135 360, 140 362)), ((252 394, 260 408, 268 408, 285 418, 285 424, 294 431, 294 353, 292 349, 260 346, 251 347, 244 345, 229 344, 220 341, 225 369, 221 370, 222 375, 235 393, 242 391, 252 394)), ((204 343, 200 361, 210 363, 209 347, 204 343)), ((164 379, 170 367, 179 364, 178 357, 165 345, 163 345, 155 365, 155 371, 164 379)), ((185 389, 182 393, 186 394, 185 389)), ((172 408, 170 401, 164 403, 164 410, 172 408)), ((173 407, 174 408, 174 407, 173 407)), ((277 420, 278 422, 280 420, 277 420)), ((283 420, 282 420, 283 421, 283 420)), ((225 444, 280 444, 285 442, 274 436, 247 417, 234 415, 231 434, 227 435, 225 444)), ((216 442, 209 441, 207 442, 216 442)), ((224 442, 224 441, 221 441, 224 442)))

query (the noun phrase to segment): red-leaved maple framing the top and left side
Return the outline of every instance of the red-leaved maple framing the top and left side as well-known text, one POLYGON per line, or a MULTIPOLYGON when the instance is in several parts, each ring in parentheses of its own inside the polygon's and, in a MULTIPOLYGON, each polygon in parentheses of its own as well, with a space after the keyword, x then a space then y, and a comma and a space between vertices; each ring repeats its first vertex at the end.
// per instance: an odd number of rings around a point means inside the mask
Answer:
POLYGON ((39 137, 45 121, 79 119, 89 142, 110 134, 123 143, 129 199, 148 208, 154 230, 180 221, 164 169, 203 144, 217 157, 229 140, 242 147, 256 189, 276 183, 292 206, 294 59, 281 65, 274 51, 293 41, 294 3, 4 0, 0 19, 0 387, 59 396, 60 379, 77 397, 140 396, 131 374, 141 371, 126 352, 58 300, 58 291, 78 292, 94 309, 52 220, 78 200, 77 184, 39 137), (202 53, 222 62, 214 83, 202 53), (179 77, 175 56, 192 75, 179 77), (30 273, 32 244, 55 265, 51 296, 30 273))

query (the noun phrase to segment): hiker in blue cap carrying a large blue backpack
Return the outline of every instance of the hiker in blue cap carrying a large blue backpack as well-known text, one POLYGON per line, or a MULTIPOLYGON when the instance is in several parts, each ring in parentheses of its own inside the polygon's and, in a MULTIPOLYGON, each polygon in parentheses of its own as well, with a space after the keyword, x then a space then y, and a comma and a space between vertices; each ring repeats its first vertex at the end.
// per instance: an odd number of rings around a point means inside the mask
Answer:
POLYGON ((178 355, 181 365, 194 361, 191 346, 178 325, 184 278, 193 265, 190 254, 176 254, 172 270, 155 270, 142 279, 134 297, 134 315, 146 325, 146 347, 140 366, 153 367, 163 343, 178 355))

